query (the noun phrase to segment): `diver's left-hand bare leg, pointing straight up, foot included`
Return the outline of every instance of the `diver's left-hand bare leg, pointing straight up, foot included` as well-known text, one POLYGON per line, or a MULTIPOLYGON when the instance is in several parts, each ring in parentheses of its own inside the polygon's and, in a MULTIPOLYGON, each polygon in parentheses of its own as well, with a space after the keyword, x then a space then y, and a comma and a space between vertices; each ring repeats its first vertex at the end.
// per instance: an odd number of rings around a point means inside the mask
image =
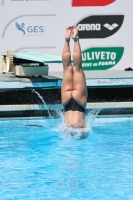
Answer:
POLYGON ((65 44, 62 52, 62 63, 63 63, 63 80, 61 88, 62 104, 66 105, 72 97, 73 90, 73 68, 71 65, 71 52, 70 52, 70 35, 71 27, 66 28, 65 44))

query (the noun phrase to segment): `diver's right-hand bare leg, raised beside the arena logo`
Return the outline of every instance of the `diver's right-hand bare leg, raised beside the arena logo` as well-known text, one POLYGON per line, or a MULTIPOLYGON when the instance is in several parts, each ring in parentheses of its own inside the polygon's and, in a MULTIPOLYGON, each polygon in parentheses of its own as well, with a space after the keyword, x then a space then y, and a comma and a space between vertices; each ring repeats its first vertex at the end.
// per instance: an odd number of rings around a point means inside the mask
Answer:
POLYGON ((84 108, 87 103, 87 87, 84 72, 82 70, 82 54, 79 43, 78 27, 73 26, 73 40, 74 40, 74 51, 73 51, 73 98, 84 108))

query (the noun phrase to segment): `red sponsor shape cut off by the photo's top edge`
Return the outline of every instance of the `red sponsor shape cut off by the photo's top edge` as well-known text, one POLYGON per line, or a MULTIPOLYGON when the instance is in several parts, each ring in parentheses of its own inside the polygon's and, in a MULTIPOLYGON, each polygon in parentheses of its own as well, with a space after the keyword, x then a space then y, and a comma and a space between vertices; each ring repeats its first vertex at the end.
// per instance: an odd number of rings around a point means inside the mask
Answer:
POLYGON ((72 0, 72 6, 107 6, 116 0, 72 0))

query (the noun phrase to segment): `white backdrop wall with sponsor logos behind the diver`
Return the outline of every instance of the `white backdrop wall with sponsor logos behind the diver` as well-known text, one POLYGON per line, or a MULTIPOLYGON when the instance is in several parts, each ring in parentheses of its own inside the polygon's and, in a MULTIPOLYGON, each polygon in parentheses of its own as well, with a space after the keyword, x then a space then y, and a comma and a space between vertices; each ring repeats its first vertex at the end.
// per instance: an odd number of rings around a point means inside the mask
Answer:
MULTIPOLYGON (((88 66, 97 63, 97 68, 88 67, 84 69, 109 69, 124 70, 132 67, 132 46, 133 46, 133 1, 116 0, 107 6, 80 6, 72 7, 72 0, 1 0, 0 5, 0 52, 12 49, 13 51, 39 51, 48 54, 60 55, 64 43, 65 27, 78 24, 87 17, 96 15, 124 15, 124 21, 121 27, 118 25, 118 31, 107 38, 86 38, 80 39, 82 51, 88 50, 91 56, 99 55, 96 60, 86 61, 88 66), (15 24, 22 26, 23 30, 18 30, 15 24), (34 31, 33 31, 34 30, 34 31), (117 48, 124 48, 123 55, 118 55, 117 48), (97 49, 98 48, 98 49, 97 49), (115 50, 116 48, 116 50, 115 50), (116 55, 116 60, 112 64, 107 59, 107 52, 116 55), (99 53, 97 53, 99 52, 99 53), (120 57, 119 59, 117 57, 120 57), (99 65, 103 62, 103 66, 99 65), (90 64, 91 63, 91 64, 90 64), (109 65, 110 64, 110 65, 109 65)), ((96 2, 98 0, 93 0, 96 2)), ((105 0, 101 0, 101 2, 105 0)), ((111 0, 108 0, 111 1, 111 0)), ((81 1, 83 2, 83 1, 81 1)), ((92 2, 92 0, 88 0, 92 2)), ((98 1, 100 2, 100 1, 98 1)), ((86 22, 90 23, 90 22, 86 22)), ((100 23, 100 22, 97 22, 100 23)), ((108 23, 108 20, 107 20, 108 23)), ((110 21, 112 26, 115 21, 110 21)), ((103 28, 109 33, 112 30, 103 28)), ((117 30, 114 28, 114 30, 117 30)), ((113 30, 113 31, 114 31, 113 30)), ((98 31, 98 30, 97 30, 98 31)), ((90 32, 90 31, 89 31, 90 32)), ((100 33, 100 32, 99 32, 100 33)), ((100 34, 99 34, 100 35, 100 34)), ((73 41, 71 41, 73 49, 73 41)), ((61 71, 62 65, 50 65, 51 71, 61 71)))

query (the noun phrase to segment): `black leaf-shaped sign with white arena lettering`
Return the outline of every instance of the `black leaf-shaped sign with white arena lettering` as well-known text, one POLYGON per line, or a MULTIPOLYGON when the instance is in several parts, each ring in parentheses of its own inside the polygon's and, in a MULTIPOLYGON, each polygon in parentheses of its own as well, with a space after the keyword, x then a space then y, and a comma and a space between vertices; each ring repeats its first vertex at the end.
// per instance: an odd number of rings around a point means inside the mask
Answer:
POLYGON ((124 15, 95 15, 86 17, 77 25, 79 38, 107 38, 115 34, 124 21, 124 15))

